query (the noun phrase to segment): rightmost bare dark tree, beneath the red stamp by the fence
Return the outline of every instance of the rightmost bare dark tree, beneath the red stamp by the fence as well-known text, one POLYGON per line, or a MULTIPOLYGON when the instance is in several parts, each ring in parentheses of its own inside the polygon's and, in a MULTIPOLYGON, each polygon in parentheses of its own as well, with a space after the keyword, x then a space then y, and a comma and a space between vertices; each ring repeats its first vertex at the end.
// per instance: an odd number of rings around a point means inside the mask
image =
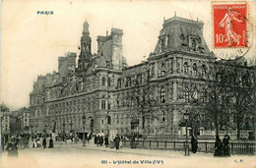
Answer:
POLYGON ((227 69, 229 93, 229 110, 233 116, 237 130, 237 140, 240 139, 240 130, 247 122, 245 119, 253 117, 254 110, 254 72, 250 69, 244 70, 237 64, 232 64, 227 69))

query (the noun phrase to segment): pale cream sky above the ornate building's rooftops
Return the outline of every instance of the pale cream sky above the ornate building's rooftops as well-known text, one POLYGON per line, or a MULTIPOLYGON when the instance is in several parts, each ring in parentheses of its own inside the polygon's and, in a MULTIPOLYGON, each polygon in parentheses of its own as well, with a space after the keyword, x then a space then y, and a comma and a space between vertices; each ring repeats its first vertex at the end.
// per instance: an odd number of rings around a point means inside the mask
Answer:
MULTIPOLYGON (((249 5, 255 19, 255 1, 249 5)), ((154 51, 163 18, 174 16, 203 21, 204 36, 213 49, 210 0, 193 1, 69 1, 3 0, 1 4, 1 97, 12 110, 29 107, 32 84, 38 75, 57 71, 58 57, 71 51, 79 56, 83 23, 87 20, 96 53, 96 36, 111 28, 123 29, 123 56, 139 64, 154 51), (53 15, 37 15, 53 11, 53 15)), ((251 21, 256 23, 255 21, 251 21)), ((254 27, 254 25, 253 25, 254 27)), ((252 36, 256 36, 253 32, 252 36)), ((255 41, 255 38, 254 40, 255 41)), ((256 42, 253 42, 254 45, 256 42)), ((253 57, 251 47, 246 57, 253 57)))

